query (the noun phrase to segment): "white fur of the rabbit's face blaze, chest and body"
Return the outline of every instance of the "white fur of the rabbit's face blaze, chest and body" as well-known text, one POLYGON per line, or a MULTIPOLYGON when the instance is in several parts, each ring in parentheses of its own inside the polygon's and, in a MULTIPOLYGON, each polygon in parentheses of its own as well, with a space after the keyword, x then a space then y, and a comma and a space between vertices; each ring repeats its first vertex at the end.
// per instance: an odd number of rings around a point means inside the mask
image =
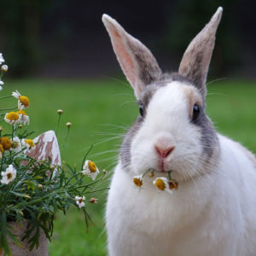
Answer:
POLYGON ((241 146, 218 135, 218 164, 202 174, 201 133, 189 123, 184 86, 172 82, 155 93, 131 143, 130 172, 120 162, 115 169, 106 212, 111 256, 256 254, 253 162, 241 146), (156 167, 154 142, 163 136, 176 147, 168 156, 179 181, 172 195, 157 191, 150 177, 142 189, 132 183, 134 175, 156 167))

